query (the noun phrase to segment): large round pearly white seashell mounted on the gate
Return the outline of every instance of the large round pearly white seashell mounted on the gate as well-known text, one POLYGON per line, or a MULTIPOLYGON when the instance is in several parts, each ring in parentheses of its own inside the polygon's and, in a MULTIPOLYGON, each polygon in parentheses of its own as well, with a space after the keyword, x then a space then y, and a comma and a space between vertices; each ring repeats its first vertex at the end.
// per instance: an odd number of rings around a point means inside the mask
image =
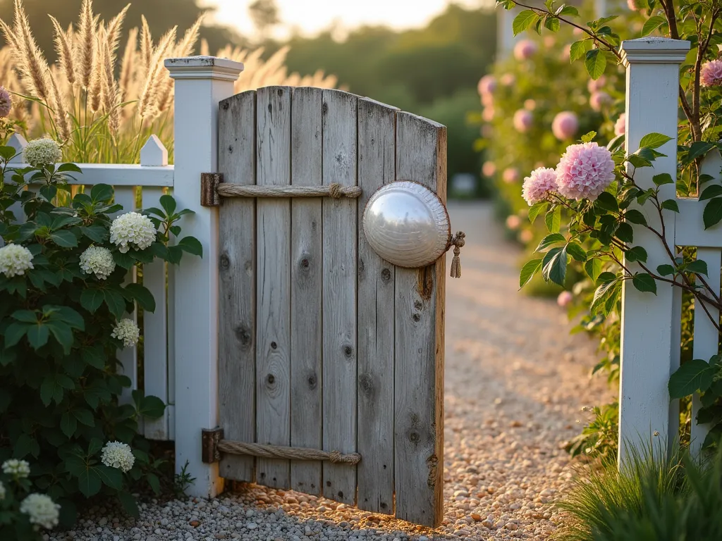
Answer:
POLYGON ((426 186, 409 180, 376 190, 363 213, 373 250, 399 267, 425 267, 443 255, 451 239, 444 203, 426 186))

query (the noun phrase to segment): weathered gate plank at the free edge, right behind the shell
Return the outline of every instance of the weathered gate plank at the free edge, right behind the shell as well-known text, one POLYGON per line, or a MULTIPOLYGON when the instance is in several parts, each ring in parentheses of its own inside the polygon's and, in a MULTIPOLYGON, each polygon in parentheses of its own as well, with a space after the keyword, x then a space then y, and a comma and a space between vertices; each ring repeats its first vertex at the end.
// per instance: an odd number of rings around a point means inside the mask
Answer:
MULTIPOLYGON (((420 182, 446 201, 444 126, 396 115, 396 178, 420 182)), ((443 518, 445 263, 396 268, 396 517, 432 527, 443 518)))

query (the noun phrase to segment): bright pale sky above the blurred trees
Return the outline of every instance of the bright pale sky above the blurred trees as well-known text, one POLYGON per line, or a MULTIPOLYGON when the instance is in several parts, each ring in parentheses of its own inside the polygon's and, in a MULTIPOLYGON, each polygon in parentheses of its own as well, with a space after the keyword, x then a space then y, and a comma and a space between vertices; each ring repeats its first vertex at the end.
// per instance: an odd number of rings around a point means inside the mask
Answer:
MULTIPOLYGON (((214 19, 251 35, 253 24, 248 4, 253 0, 204 0, 217 6, 214 19)), ((479 6, 480 0, 456 0, 457 4, 479 6)), ((443 12, 448 0, 277 0, 282 24, 274 32, 278 38, 292 30, 313 35, 331 25, 349 30, 360 25, 386 25, 396 29, 422 27, 443 12)))

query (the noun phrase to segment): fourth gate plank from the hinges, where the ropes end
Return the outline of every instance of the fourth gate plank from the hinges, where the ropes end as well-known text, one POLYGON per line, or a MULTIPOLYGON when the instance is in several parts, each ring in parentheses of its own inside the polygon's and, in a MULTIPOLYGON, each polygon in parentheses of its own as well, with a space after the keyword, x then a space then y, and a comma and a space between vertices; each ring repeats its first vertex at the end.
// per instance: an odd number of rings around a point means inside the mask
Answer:
MULTIPOLYGON (((356 185, 358 98, 323 91, 323 184, 356 185)), ((356 451, 357 201, 323 200, 323 449, 356 451)), ((323 464, 323 495, 355 503, 356 467, 323 464)))

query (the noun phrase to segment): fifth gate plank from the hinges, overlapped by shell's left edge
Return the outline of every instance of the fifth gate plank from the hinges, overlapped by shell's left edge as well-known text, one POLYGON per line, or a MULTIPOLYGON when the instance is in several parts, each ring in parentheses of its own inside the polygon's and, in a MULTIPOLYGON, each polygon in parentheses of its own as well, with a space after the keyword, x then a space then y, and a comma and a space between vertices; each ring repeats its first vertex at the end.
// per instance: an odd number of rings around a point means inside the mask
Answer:
POLYGON ((358 506, 393 514, 394 281, 391 263, 366 241, 366 203, 396 180, 396 109, 359 100, 358 177, 358 506))

